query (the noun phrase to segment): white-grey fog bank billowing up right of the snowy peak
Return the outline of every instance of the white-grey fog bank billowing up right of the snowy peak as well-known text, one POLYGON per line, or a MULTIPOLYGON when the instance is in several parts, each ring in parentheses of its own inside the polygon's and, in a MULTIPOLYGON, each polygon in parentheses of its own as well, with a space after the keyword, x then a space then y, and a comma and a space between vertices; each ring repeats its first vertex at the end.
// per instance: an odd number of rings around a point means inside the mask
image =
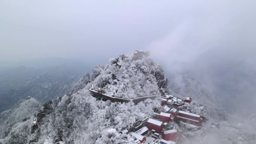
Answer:
POLYGON ((147 48, 180 87, 185 87, 182 77, 189 73, 211 89, 224 108, 254 110, 255 2, 201 4, 186 5, 186 14, 179 15, 169 34, 147 48))

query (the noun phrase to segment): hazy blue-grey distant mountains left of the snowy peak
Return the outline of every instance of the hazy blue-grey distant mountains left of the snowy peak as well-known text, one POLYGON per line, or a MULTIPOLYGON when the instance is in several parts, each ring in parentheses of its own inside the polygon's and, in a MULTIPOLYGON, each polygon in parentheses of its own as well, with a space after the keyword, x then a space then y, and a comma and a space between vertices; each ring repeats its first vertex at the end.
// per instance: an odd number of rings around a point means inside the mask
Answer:
POLYGON ((45 102, 68 94, 90 66, 79 61, 66 61, 57 58, 30 60, 18 63, 23 66, 10 64, 12 68, 1 70, 0 111, 8 110, 27 96, 45 102))

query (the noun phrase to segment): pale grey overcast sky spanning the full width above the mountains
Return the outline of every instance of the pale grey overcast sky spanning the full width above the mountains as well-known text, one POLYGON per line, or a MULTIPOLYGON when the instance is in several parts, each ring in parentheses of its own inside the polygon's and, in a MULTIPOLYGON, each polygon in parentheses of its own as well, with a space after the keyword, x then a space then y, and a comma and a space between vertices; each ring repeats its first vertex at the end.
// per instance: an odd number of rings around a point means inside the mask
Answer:
POLYGON ((255 11, 247 0, 1 0, 0 60, 108 59, 145 49, 191 61, 213 47, 255 44, 255 11))

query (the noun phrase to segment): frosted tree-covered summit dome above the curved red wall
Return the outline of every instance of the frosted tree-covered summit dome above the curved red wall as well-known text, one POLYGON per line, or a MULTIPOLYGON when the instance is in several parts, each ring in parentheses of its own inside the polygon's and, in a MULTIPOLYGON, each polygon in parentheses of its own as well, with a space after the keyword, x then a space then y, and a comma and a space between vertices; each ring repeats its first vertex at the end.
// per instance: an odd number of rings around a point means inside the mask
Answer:
POLYGON ((107 95, 130 99, 138 95, 156 95, 165 80, 162 67, 152 59, 120 55, 109 60, 93 83, 107 95))

